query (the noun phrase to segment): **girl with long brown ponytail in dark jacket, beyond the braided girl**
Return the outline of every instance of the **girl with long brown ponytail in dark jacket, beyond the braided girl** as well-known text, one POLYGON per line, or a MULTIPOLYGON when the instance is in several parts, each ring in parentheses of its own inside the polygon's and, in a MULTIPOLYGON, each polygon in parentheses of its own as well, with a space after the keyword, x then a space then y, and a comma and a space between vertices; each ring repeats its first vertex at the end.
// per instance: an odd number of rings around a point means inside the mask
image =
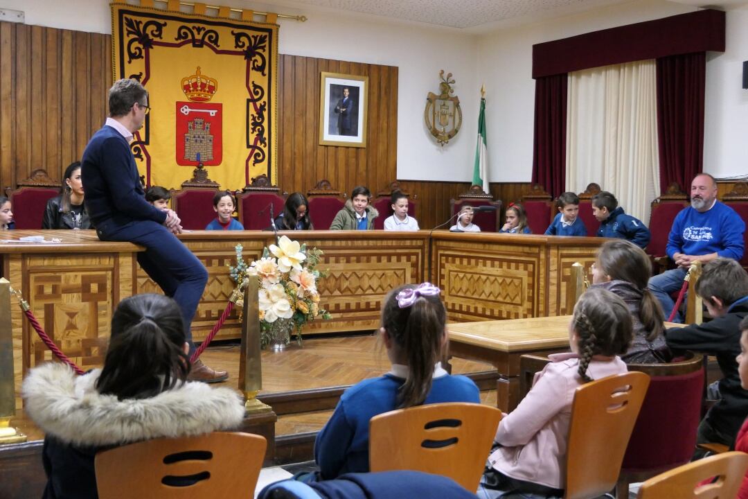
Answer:
POLYGON ((626 364, 669 362, 660 302, 647 287, 652 263, 642 248, 625 239, 600 247, 592 266, 592 287, 615 293, 625 301, 634 325, 634 340, 621 358, 626 364))

